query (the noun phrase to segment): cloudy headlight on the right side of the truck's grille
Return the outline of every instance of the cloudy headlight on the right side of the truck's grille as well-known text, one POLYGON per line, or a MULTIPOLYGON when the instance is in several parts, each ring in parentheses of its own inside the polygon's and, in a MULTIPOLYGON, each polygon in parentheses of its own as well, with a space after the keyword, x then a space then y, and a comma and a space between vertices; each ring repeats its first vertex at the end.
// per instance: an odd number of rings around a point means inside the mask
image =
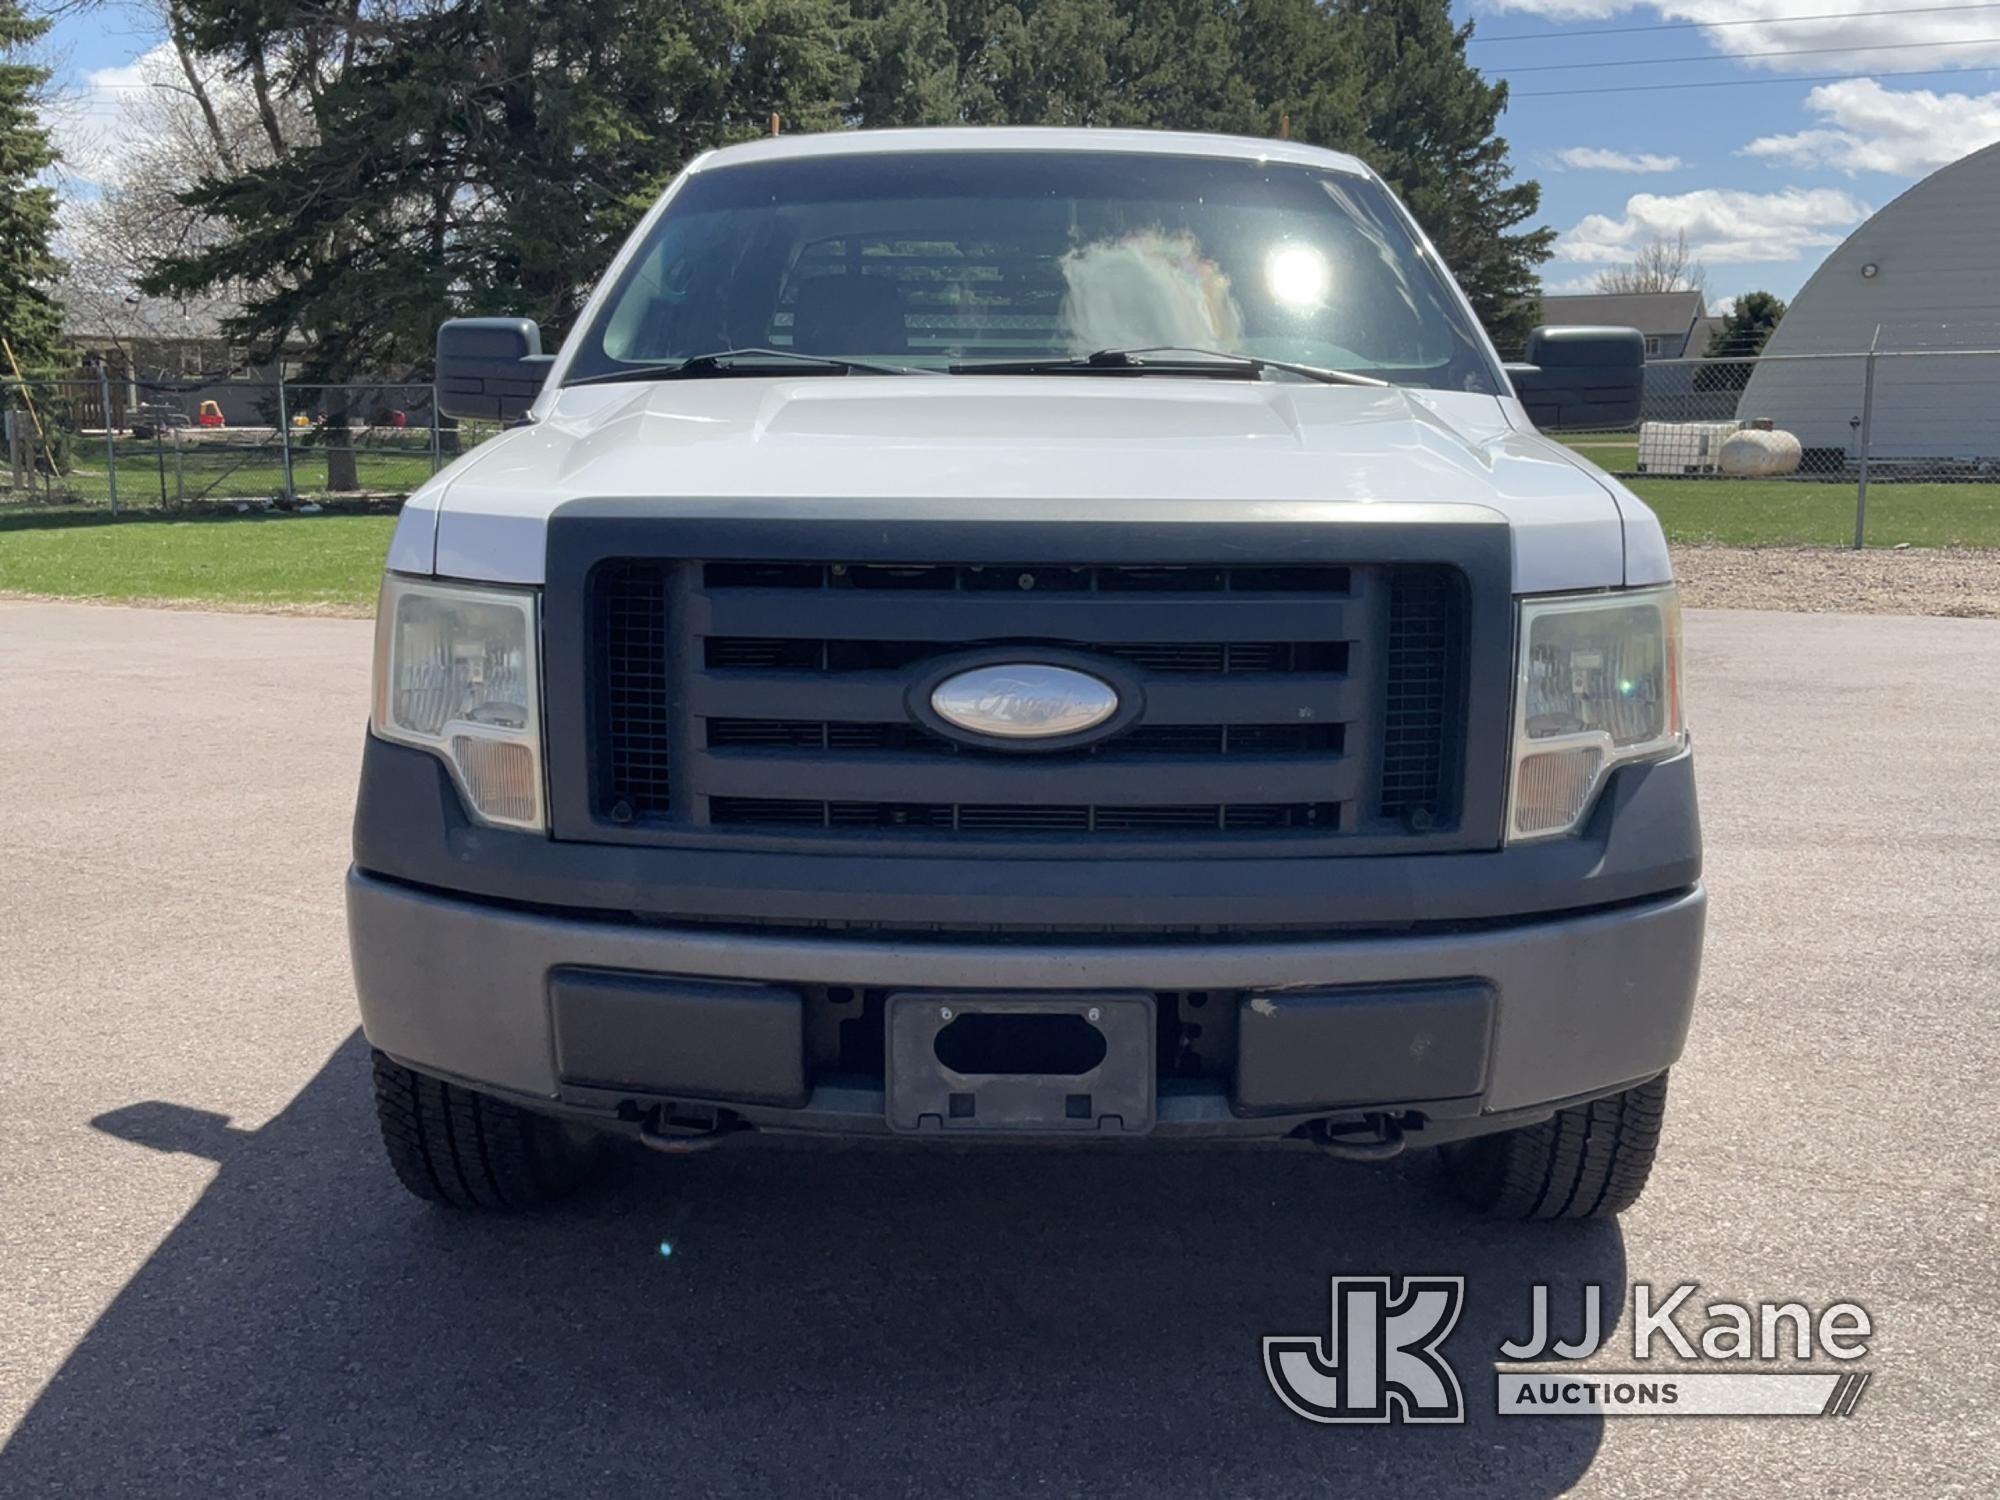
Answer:
POLYGON ((1568 834, 1614 766, 1686 744, 1672 586, 1522 600, 1518 640, 1508 810, 1516 842, 1568 834))

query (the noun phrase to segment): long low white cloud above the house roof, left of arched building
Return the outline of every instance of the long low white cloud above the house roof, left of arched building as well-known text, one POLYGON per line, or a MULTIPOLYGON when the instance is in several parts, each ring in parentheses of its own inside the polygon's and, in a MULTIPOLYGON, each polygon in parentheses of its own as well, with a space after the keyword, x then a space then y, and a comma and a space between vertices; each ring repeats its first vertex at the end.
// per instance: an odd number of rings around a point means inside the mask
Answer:
POLYGON ((1710 266, 1798 260, 1806 250, 1840 244, 1868 218, 1868 206, 1836 188, 1738 192, 1636 192, 1624 214, 1584 214, 1556 240, 1556 260, 1614 266, 1652 240, 1688 236, 1688 250, 1710 266))

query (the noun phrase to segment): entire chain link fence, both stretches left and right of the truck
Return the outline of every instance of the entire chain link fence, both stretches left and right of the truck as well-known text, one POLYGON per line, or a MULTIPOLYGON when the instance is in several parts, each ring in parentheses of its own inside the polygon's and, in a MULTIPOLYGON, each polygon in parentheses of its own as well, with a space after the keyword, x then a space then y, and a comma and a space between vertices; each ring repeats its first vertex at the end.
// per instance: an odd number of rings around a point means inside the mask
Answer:
MULTIPOLYGON (((1662 514, 1706 496, 1710 516, 1762 514, 1766 538, 1784 536, 1772 530, 1788 524, 1780 512, 1808 496, 1822 540, 1824 508, 1852 504, 1856 546, 1870 496, 1902 514, 1988 506, 2000 524, 2000 338, 1954 348, 1954 332, 1878 332, 1874 348, 1836 354, 1650 360, 1636 424, 1560 438, 1662 514)), ((440 420, 428 382, 84 372, 4 380, 0 410, 0 510, 392 504, 498 430, 440 420)))

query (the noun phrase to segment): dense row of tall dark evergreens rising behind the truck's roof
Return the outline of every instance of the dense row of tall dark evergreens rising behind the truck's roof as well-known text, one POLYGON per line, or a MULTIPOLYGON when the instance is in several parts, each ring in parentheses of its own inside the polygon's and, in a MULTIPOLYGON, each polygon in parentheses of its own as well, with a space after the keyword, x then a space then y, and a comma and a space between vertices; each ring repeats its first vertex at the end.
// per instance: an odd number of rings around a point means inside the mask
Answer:
POLYGON ((144 290, 250 288, 230 332, 302 336, 310 378, 422 368, 454 312, 562 332, 672 172, 772 114, 1288 124, 1382 170, 1504 344, 1552 240, 1520 228, 1540 190, 1512 180, 1506 88, 1466 62, 1448 0, 432 0, 346 34, 284 0, 180 6, 202 54, 310 130, 272 128, 270 166, 218 164, 190 202, 226 234, 144 290))

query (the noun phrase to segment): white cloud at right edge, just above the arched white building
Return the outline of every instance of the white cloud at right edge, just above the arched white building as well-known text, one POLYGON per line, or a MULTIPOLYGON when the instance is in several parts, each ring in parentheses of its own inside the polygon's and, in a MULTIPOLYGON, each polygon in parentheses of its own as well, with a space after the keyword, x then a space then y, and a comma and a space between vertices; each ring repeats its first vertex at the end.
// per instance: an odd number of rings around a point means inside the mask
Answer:
POLYGON ((1826 124, 1790 136, 1758 136, 1738 154, 1848 176, 1910 178, 2000 140, 2000 94, 1934 94, 1850 78, 1814 88, 1806 108, 1826 124))

